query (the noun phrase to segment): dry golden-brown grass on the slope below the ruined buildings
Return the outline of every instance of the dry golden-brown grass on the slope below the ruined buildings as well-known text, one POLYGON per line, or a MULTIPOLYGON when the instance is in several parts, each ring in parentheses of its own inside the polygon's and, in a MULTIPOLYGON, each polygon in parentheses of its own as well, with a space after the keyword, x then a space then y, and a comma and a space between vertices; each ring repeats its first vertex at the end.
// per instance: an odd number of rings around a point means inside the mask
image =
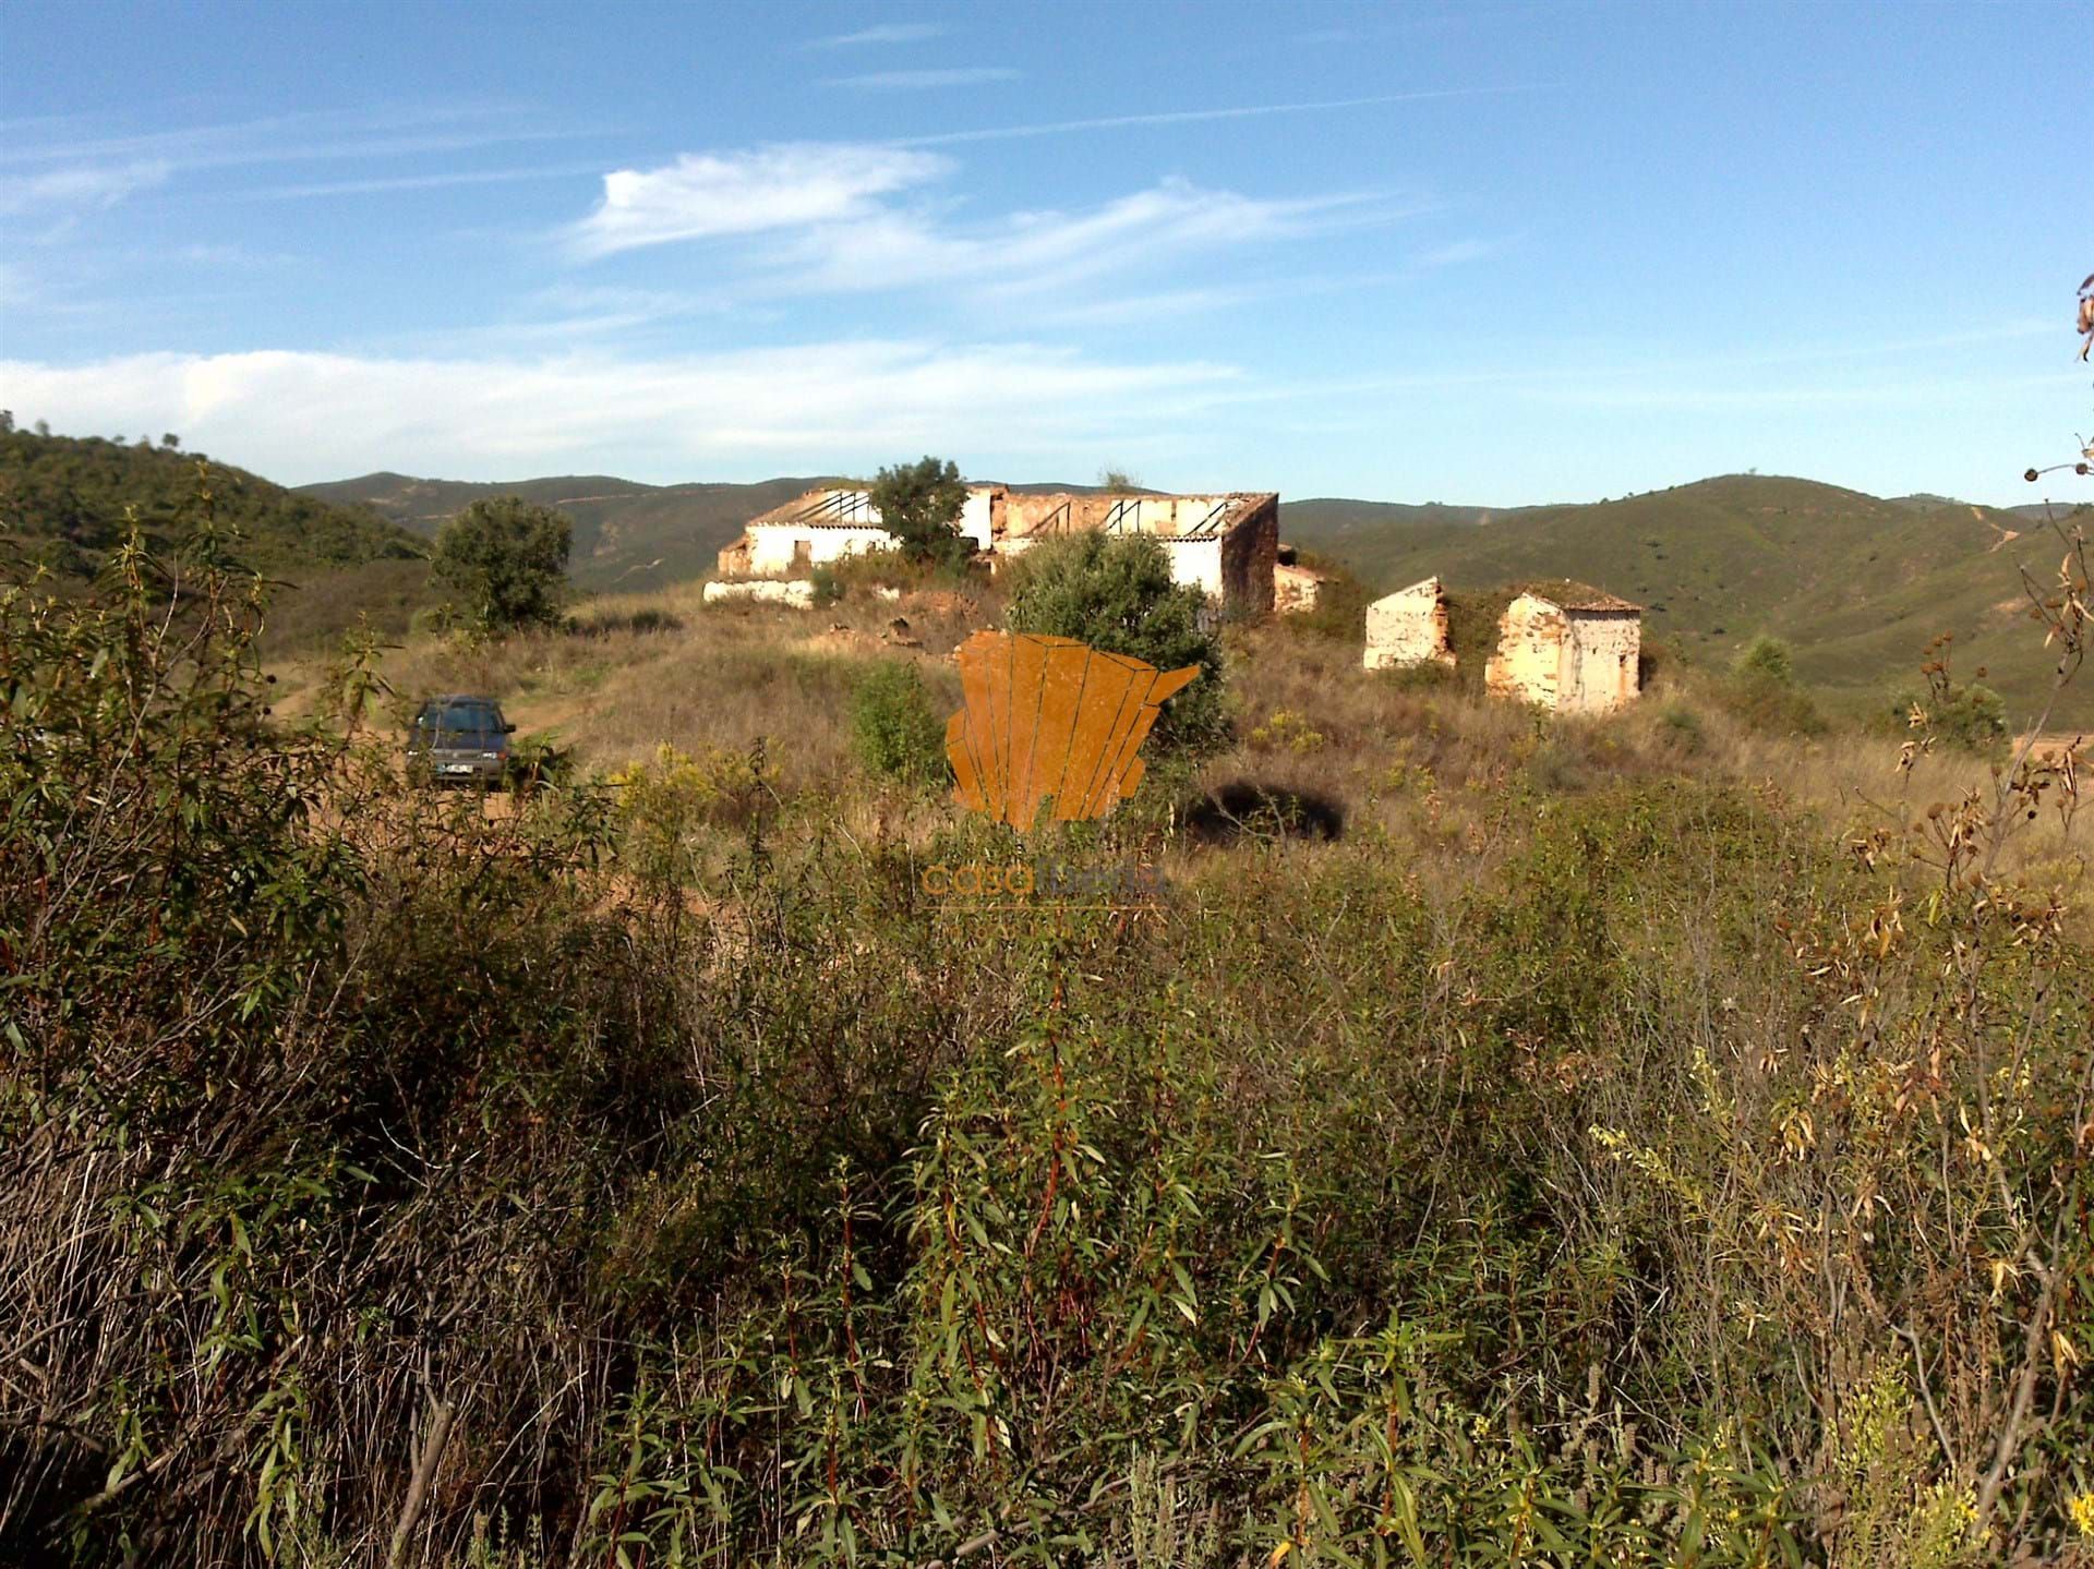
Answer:
MULTIPOLYGON (((480 691, 498 698, 519 731, 549 735, 591 769, 643 760, 664 744, 697 756, 762 742, 787 796, 821 796, 848 832, 926 842, 949 821, 942 804, 863 779, 838 790, 856 773, 850 689, 867 660, 911 658, 934 702, 957 706, 944 656, 999 610, 986 587, 884 599, 871 582, 812 612, 706 607, 693 582, 593 599, 570 631, 480 645, 408 637, 383 651, 379 670, 394 723, 427 693, 480 691)), ((320 700, 322 662, 276 675, 281 712, 320 700)), ((1859 836, 1910 827, 1931 804, 1993 783, 1985 758, 1956 750, 1901 767, 1897 737, 1862 725, 1820 735, 1755 729, 1723 704, 1719 677, 1677 664, 1623 714, 1547 721, 1460 683, 1367 675, 1355 645, 1279 622, 1229 633, 1227 681, 1235 739, 1179 783, 1179 804, 1240 781, 1328 802, 1346 838, 1411 855, 1426 882, 1449 888, 1489 871, 1514 842, 1508 798, 1728 777, 1813 809, 1832 834, 1859 836)), ((2008 869, 2067 894, 2084 884, 2081 857, 2054 821, 2014 842, 2008 869)))

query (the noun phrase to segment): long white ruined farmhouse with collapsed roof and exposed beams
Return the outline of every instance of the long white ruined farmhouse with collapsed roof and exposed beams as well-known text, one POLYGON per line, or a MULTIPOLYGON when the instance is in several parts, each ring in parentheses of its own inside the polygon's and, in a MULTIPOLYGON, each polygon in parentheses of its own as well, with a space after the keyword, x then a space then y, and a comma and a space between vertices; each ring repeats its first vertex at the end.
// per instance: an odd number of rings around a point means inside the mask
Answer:
MULTIPOLYGON (((990 563, 1060 534, 1148 534, 1171 557, 1171 576, 1198 587, 1227 616, 1273 610, 1279 561, 1279 496, 1223 492, 1133 496, 1020 492, 1001 484, 967 488, 959 532, 990 563)), ((720 551, 720 576, 804 574, 854 551, 886 549, 894 536, 865 490, 827 486, 752 517, 720 551)))

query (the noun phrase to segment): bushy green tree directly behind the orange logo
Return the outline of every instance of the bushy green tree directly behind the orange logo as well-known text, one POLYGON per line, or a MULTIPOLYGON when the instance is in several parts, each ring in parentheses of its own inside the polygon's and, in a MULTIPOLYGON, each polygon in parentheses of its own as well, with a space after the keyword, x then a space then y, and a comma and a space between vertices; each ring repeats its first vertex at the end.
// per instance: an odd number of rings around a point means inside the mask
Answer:
POLYGON ((1158 670, 1200 666, 1200 679, 1164 704, 1164 746, 1206 746, 1227 735, 1221 643, 1206 595, 1171 580, 1171 557, 1150 534, 1070 534, 1034 545, 1013 566, 1005 624, 1013 633, 1074 637, 1131 654, 1158 670))

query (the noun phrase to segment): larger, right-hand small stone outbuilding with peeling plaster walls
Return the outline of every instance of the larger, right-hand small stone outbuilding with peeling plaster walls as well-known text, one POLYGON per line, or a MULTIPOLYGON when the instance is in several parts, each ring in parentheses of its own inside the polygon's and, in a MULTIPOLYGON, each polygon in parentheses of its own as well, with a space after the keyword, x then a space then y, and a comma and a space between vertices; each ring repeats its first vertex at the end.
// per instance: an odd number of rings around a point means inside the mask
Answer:
POLYGON ((1635 702, 1642 651, 1644 612, 1627 599, 1577 582, 1529 589, 1497 622, 1483 685, 1556 714, 1610 714, 1635 702))

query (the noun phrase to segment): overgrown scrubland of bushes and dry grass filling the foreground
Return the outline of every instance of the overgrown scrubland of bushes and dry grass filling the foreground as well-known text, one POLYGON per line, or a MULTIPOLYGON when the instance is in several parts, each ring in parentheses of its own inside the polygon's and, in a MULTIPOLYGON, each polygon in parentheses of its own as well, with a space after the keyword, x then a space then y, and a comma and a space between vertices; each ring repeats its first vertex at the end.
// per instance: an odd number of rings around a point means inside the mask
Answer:
POLYGON ((854 744, 993 597, 268 683, 157 570, 0 620, 0 1556, 2094 1563, 2067 767, 1271 624, 1020 842, 854 744))

